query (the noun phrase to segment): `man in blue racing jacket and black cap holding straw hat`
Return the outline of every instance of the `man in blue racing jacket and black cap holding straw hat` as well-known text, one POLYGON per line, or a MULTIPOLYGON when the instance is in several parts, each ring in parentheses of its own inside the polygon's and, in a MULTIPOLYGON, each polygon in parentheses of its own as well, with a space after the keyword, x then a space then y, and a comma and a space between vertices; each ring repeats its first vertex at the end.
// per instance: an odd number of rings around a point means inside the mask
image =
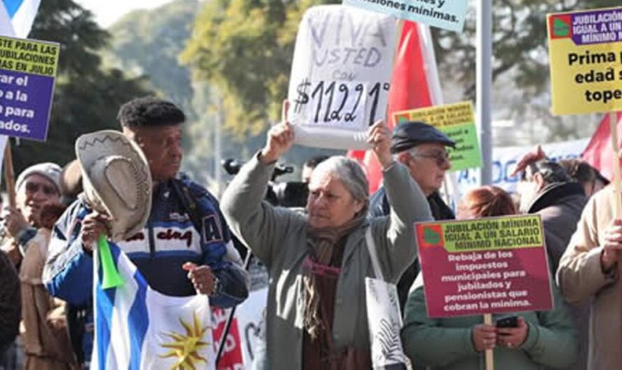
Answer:
POLYGON ((248 295, 247 273, 217 200, 178 175, 184 113, 168 101, 136 98, 119 119, 122 134, 100 131, 76 142, 85 193, 55 227, 48 290, 72 304, 89 302, 92 251, 104 233, 154 290, 239 304, 248 295))

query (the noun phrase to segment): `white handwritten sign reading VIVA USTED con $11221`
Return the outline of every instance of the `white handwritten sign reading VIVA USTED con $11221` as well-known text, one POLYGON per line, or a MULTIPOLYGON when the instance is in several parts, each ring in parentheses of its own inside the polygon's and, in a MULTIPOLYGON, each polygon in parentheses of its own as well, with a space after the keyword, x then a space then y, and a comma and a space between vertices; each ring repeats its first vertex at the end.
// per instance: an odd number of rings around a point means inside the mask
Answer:
POLYGON ((396 28, 394 17, 347 6, 306 11, 287 96, 297 144, 368 148, 368 127, 386 113, 396 28))

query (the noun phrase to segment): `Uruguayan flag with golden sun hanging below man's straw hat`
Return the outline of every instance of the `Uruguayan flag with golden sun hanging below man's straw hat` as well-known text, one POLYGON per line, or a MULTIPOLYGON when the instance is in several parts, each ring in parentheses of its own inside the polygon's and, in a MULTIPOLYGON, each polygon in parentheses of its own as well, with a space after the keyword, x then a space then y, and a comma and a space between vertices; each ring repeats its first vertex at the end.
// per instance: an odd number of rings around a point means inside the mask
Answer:
POLYGON ((94 253, 91 369, 215 369, 208 297, 162 295, 147 286, 136 266, 112 242, 110 251, 124 284, 101 288, 99 253, 94 253))

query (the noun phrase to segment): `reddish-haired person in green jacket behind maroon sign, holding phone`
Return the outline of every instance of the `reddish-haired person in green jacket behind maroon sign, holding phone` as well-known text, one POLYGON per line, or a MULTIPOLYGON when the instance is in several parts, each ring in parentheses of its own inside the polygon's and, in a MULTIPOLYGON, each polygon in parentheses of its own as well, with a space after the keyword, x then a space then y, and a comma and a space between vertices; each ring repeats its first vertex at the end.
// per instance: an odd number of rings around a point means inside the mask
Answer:
MULTIPOLYGON (((509 194, 482 186, 465 195, 459 219, 516 214, 509 194)), ((482 316, 428 318, 423 274, 417 276, 405 306, 402 340, 410 360, 428 369, 483 369, 485 350, 495 348, 494 368, 536 370, 570 367, 577 339, 559 290, 551 284, 554 309, 496 316, 485 325, 482 316)))

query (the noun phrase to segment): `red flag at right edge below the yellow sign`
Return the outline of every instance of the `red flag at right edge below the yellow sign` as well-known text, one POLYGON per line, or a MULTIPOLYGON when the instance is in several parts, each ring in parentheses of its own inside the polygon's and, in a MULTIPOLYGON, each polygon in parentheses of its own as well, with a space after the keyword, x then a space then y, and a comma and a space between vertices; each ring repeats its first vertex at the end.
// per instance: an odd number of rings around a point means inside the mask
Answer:
MULTIPOLYGON (((618 120, 616 125, 618 128, 618 140, 621 140, 622 132, 620 131, 620 124, 622 121, 622 112, 617 112, 616 117, 618 120)), ((592 139, 588 143, 588 146, 583 151, 583 154, 581 154, 581 158, 599 170, 603 176, 607 177, 607 179, 612 180, 614 178, 614 169, 612 167, 613 151, 610 134, 609 114, 605 114, 605 117, 602 117, 596 132, 592 135, 592 139)))

